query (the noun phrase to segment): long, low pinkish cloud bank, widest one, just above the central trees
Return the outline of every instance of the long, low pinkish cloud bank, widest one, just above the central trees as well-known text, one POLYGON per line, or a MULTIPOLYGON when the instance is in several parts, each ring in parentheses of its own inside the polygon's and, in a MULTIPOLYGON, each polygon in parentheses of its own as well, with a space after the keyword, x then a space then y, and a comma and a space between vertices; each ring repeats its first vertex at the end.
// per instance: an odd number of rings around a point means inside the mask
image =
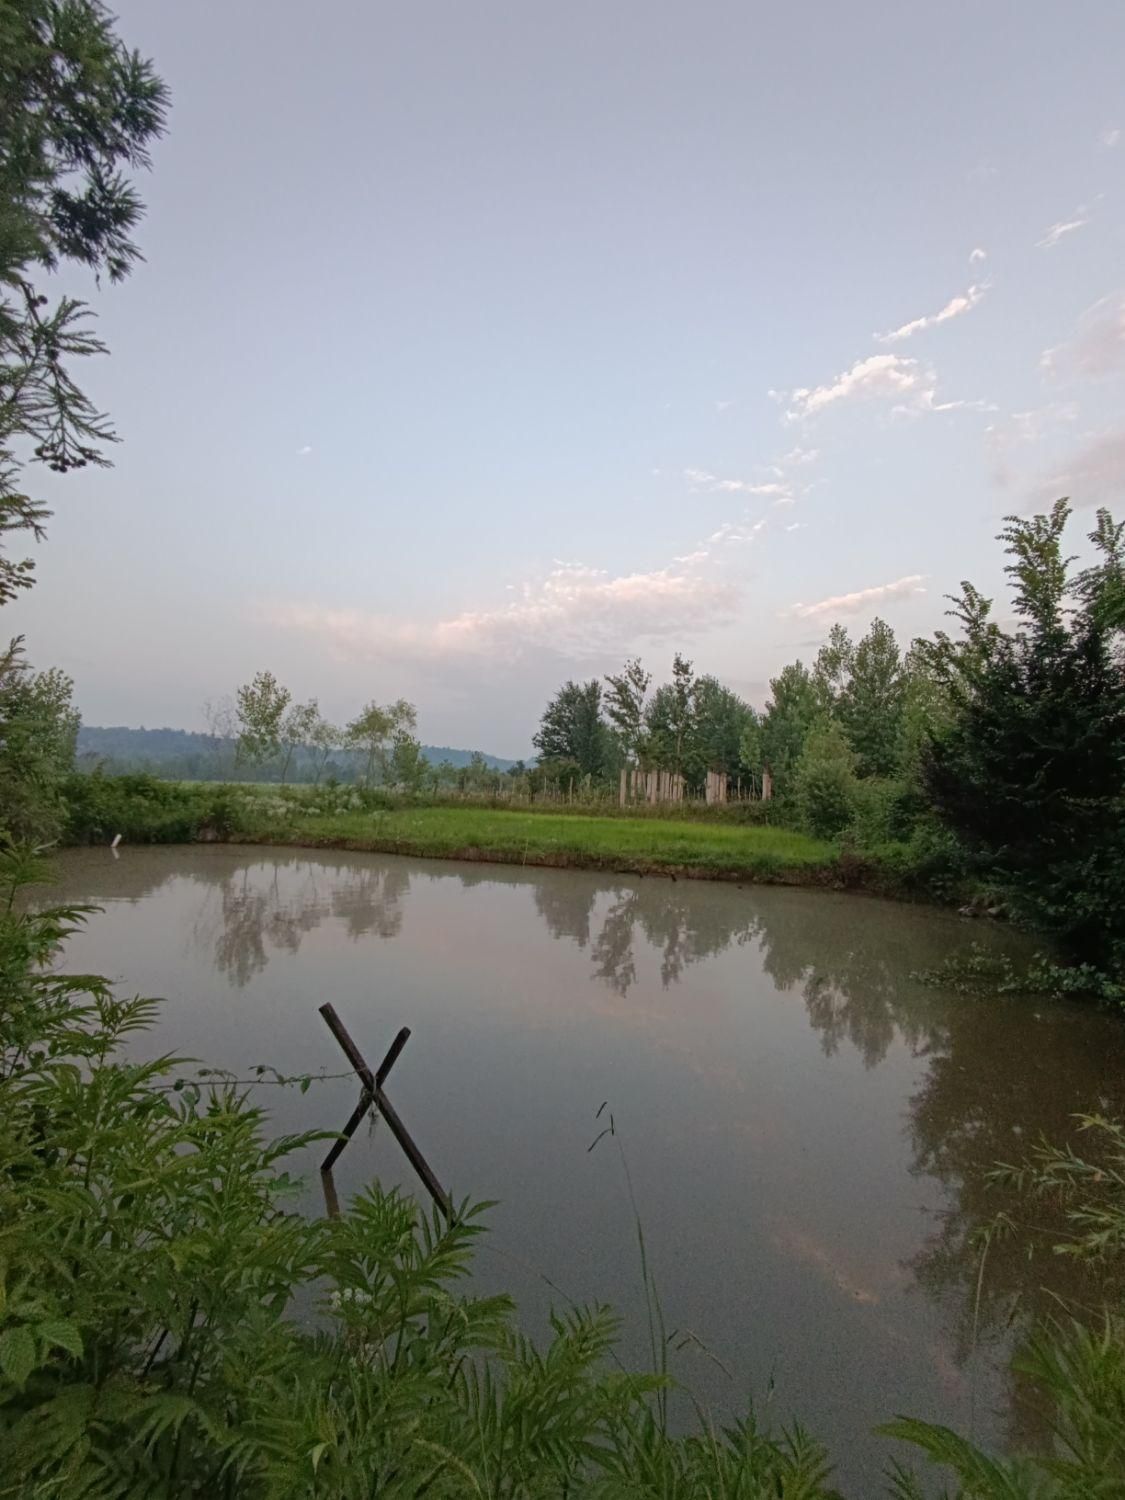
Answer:
POLYGON ((430 622, 300 603, 267 606, 260 616, 327 640, 345 656, 442 664, 464 658, 514 662, 534 650, 600 656, 640 639, 723 624, 732 618, 736 598, 732 585, 686 573, 682 566, 614 576, 603 568, 560 564, 544 579, 519 585, 516 597, 498 609, 465 610, 430 622))

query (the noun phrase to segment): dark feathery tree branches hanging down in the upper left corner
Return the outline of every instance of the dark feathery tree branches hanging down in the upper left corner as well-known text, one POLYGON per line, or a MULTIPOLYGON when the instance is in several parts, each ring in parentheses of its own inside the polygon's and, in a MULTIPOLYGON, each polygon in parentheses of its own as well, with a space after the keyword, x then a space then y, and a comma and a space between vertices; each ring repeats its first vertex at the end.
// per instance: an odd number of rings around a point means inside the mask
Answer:
MULTIPOLYGON (((24 492, 18 452, 56 472, 106 462, 112 430, 70 370, 105 346, 81 302, 44 288, 66 261, 129 273, 142 208, 124 172, 147 165, 166 102, 94 0, 0 6, 0 548, 42 538, 50 514, 24 492)), ((0 550, 0 603, 32 570, 0 550)))

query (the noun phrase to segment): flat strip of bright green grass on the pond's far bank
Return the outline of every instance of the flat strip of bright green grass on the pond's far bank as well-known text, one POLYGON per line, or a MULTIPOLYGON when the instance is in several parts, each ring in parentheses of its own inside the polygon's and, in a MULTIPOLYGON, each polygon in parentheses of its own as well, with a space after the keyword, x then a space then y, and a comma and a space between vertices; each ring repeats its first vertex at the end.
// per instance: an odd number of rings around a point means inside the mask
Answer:
MULTIPOLYGON (((478 807, 400 807, 258 819, 248 804, 244 837, 388 850, 429 858, 494 860, 596 870, 664 870, 682 874, 786 880, 825 874, 834 844, 786 828, 736 828, 654 818, 478 807)), ((266 812, 266 808, 262 808, 266 812)))

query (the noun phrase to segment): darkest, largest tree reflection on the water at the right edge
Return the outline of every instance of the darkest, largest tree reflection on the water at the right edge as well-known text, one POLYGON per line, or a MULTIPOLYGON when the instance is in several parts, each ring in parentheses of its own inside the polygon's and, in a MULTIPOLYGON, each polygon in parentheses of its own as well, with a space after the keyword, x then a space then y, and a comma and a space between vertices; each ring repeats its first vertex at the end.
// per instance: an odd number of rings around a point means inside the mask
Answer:
MULTIPOLYGON (((915 1170, 936 1176, 948 1203, 910 1270, 928 1296, 956 1310, 958 1364, 974 1346, 1002 1352, 1012 1332, 1058 1316, 1060 1304, 1096 1317, 1113 1290, 1104 1268, 1052 1252, 1066 1238, 1058 1204, 1029 1202, 992 1173, 998 1162, 1024 1161, 1040 1138, 1074 1140, 1082 1112, 1125 1116, 1119 1024, 993 996, 950 1006, 909 1124, 915 1170), (988 1234, 986 1251, 982 1232, 1000 1214, 1016 1227, 988 1234)), ((1044 1436, 1044 1413, 1018 1389, 1008 1426, 1012 1440, 1044 1436)))

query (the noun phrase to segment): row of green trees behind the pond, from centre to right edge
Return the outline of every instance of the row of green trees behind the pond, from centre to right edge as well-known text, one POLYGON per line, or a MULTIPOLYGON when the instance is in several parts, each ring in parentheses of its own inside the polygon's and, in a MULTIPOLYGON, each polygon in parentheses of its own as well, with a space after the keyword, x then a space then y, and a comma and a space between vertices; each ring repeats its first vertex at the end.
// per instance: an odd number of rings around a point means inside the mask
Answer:
POLYGON ((950 596, 954 634, 906 650, 876 620, 836 624, 812 664, 770 682, 760 712, 676 654, 651 692, 639 660, 566 682, 536 747, 543 774, 610 788, 622 765, 708 771, 774 814, 897 861, 930 894, 969 880, 1052 934, 1125 999, 1125 522, 1100 510, 1094 561, 1065 550, 1071 506, 1010 516, 999 534, 1011 624, 970 582, 950 596))

